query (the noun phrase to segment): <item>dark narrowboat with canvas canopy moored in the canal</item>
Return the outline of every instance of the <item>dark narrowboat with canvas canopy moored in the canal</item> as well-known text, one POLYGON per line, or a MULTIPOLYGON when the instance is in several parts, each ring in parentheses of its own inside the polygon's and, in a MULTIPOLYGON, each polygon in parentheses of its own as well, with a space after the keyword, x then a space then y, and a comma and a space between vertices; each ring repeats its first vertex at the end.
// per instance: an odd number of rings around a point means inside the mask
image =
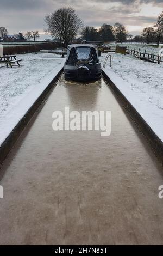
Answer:
POLYGON ((91 44, 68 45, 64 73, 67 80, 85 82, 101 78, 102 68, 97 46, 91 44))

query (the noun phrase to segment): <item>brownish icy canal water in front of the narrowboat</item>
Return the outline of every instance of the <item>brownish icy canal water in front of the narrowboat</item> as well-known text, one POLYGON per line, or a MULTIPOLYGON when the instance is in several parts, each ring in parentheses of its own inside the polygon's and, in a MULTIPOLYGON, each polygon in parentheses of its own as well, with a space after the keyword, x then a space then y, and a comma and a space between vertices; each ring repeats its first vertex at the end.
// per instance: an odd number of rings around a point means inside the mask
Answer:
POLYGON ((1 167, 0 243, 163 243, 160 163, 103 80, 61 76, 1 167), (111 111, 111 135, 54 131, 52 113, 111 111))

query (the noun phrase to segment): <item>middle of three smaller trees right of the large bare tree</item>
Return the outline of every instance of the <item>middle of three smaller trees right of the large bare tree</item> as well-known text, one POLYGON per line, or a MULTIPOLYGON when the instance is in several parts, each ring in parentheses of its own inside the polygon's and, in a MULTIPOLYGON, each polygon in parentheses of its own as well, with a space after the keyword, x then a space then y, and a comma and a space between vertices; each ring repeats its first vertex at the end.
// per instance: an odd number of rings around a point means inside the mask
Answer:
POLYGON ((102 41, 114 41, 115 40, 115 36, 112 33, 112 26, 108 25, 108 24, 103 24, 100 28, 99 28, 99 36, 101 38, 102 41))

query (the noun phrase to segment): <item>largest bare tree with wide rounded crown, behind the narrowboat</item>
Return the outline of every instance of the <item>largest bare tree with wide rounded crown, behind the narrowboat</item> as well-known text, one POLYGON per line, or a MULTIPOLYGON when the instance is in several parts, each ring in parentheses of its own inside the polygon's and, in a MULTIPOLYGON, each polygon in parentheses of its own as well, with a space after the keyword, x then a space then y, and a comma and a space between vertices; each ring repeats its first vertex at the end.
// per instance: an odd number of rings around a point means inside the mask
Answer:
POLYGON ((47 29, 45 32, 60 40, 65 45, 83 28, 83 21, 78 17, 76 11, 71 7, 56 10, 53 14, 45 17, 47 29))

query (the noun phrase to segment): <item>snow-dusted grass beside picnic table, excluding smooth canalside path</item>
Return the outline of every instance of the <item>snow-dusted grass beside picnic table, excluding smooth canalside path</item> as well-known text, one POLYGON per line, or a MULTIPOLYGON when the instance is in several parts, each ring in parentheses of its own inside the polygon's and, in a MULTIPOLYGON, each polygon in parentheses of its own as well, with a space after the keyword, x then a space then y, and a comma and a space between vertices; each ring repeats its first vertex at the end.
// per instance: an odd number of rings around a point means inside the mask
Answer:
POLYGON ((0 118, 61 63, 55 54, 29 53, 17 55, 17 59, 22 59, 20 68, 0 66, 0 118))

